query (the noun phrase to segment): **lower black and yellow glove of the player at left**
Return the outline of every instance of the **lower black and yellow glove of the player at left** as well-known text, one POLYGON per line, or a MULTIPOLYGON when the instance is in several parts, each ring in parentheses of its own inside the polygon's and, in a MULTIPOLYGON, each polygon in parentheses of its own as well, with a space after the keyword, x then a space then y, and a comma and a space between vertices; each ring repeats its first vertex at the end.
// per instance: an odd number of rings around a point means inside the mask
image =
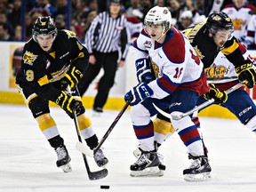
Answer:
POLYGON ((61 92, 60 96, 55 101, 60 108, 63 108, 68 116, 74 118, 73 110, 76 111, 76 116, 79 116, 84 113, 85 109, 80 100, 75 100, 73 96, 69 96, 66 92, 61 92))

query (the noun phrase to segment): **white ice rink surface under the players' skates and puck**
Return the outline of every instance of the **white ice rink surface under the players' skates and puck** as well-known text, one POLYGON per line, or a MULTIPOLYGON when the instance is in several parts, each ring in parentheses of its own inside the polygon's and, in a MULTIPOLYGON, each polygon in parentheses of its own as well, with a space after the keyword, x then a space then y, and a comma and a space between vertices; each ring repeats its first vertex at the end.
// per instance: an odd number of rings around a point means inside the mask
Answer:
MULTIPOLYGON (((136 159, 132 151, 137 146, 129 111, 116 124, 103 146, 108 156, 108 176, 89 180, 83 157, 76 150, 76 128, 60 108, 51 108, 71 156, 73 171, 64 173, 55 165, 56 154, 37 128, 36 120, 25 106, 0 105, 0 191, 2 192, 251 192, 256 190, 256 135, 238 120, 201 118, 204 142, 209 149, 212 179, 203 182, 183 180, 188 168, 187 149, 177 134, 160 148, 166 171, 163 177, 132 178, 130 164, 136 159), (108 185, 109 189, 100 189, 108 185)), ((105 111, 92 116, 92 124, 102 138, 119 111, 105 111)), ((88 157, 92 171, 100 170, 88 157)))

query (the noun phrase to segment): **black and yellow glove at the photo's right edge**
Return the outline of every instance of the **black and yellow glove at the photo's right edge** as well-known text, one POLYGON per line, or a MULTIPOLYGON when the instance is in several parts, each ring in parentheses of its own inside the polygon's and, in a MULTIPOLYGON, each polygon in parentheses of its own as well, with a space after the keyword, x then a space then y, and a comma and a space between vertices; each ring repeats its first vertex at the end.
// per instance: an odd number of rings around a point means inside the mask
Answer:
POLYGON ((240 82, 248 88, 252 88, 256 81, 256 72, 252 67, 251 60, 245 60, 246 63, 236 68, 236 74, 240 82))

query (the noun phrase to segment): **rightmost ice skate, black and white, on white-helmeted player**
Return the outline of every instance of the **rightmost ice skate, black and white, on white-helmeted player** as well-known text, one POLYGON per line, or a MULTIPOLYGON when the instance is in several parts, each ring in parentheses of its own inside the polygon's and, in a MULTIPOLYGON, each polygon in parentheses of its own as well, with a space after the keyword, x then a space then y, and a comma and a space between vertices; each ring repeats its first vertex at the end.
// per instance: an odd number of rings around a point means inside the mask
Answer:
POLYGON ((188 169, 183 171, 184 180, 187 181, 204 181, 211 178, 210 172, 212 168, 209 164, 208 158, 205 156, 192 156, 189 158, 193 160, 188 169))

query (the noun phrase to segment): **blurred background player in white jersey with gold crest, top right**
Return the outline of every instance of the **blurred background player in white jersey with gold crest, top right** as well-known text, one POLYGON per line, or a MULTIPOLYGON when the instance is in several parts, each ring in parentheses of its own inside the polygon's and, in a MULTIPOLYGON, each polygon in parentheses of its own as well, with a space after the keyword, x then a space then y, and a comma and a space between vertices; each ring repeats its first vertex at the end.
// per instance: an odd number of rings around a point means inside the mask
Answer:
POLYGON ((244 38, 247 35, 246 28, 252 17, 249 12, 252 10, 256 10, 256 7, 246 4, 245 0, 233 0, 233 4, 228 4, 221 11, 227 13, 228 17, 232 20, 235 28, 233 35, 241 42, 244 42, 244 38))

